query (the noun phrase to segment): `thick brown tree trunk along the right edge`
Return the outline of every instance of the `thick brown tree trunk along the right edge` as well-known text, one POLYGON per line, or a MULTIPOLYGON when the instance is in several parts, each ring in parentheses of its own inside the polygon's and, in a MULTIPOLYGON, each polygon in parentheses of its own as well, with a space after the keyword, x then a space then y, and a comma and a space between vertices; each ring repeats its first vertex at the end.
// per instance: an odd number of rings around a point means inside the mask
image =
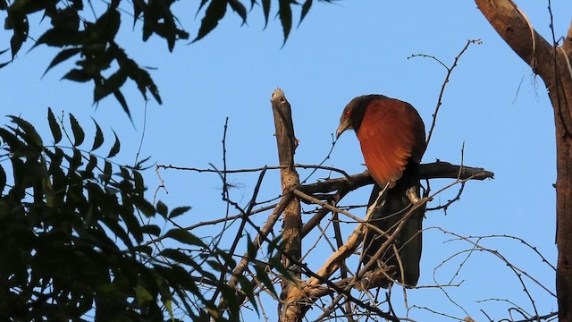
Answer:
MULTIPOLYGON (((556 292, 559 321, 572 321, 572 25, 562 46, 534 31, 509 0, 475 0, 484 17, 546 84, 556 127, 556 292)), ((543 220, 543 218, 539 218, 543 220)))

